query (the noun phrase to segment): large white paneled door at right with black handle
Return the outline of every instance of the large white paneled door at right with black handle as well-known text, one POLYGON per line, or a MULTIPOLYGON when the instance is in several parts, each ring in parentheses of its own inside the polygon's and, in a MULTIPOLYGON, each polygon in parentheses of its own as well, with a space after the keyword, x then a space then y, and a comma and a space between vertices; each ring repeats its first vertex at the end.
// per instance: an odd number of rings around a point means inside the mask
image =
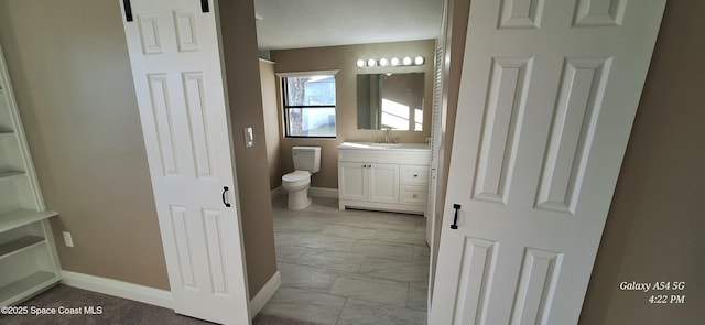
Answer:
POLYGON ((577 323, 664 6, 471 1, 431 324, 577 323))

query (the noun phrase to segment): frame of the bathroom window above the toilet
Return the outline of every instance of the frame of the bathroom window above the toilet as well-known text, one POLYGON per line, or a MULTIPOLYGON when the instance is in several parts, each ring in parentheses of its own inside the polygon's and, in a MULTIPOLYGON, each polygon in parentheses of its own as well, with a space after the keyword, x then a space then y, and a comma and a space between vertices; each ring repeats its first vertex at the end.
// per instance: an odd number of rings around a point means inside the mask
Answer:
POLYGON ((281 112, 282 112, 282 120, 284 122, 283 127, 284 127, 284 138, 301 138, 301 139, 336 139, 338 136, 338 128, 337 128, 337 121, 338 121, 338 110, 337 110, 337 104, 338 104, 338 99, 337 99, 337 80, 336 80, 336 75, 337 75, 338 71, 313 71, 313 72, 299 72, 299 73, 278 73, 276 76, 280 78, 280 87, 281 87, 281 112), (288 80, 286 78, 290 77, 306 77, 306 76, 321 76, 321 75, 329 75, 333 76, 333 79, 335 82, 335 104, 333 105, 288 105, 289 101, 289 87, 288 87, 288 80), (291 134, 291 130, 290 130, 290 126, 289 126, 289 110, 292 108, 333 108, 334 112, 335 112, 335 134, 333 136, 294 136, 291 134))

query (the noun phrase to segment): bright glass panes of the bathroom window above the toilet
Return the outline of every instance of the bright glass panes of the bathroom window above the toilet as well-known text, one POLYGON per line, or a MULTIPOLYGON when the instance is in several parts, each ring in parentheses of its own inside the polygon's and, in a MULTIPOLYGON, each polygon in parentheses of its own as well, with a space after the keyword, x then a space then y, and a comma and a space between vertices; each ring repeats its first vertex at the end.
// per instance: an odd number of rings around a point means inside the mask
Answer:
POLYGON ((335 138, 335 75, 282 77, 286 137, 335 138))

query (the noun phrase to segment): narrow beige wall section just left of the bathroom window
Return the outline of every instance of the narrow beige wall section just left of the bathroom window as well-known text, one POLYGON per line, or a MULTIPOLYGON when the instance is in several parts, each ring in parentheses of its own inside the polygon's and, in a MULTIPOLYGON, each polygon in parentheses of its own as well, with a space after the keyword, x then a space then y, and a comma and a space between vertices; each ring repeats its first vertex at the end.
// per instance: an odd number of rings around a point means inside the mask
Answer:
POLYGON ((260 58, 260 79, 262 84, 262 108, 264 115, 264 134, 267 138, 267 160, 269 164, 269 188, 282 184, 281 174, 281 124, 276 105, 276 76, 274 63, 260 58))

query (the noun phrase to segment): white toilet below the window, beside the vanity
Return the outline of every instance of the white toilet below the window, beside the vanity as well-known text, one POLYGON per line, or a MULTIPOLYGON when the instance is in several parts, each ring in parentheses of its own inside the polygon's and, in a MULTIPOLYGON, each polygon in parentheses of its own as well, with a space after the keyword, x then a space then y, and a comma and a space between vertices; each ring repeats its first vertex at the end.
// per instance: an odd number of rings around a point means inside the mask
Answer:
POLYGON ((308 185, 311 174, 321 171, 321 147, 294 147, 291 153, 295 171, 282 176, 282 187, 289 192, 289 209, 299 210, 311 204, 308 185))

